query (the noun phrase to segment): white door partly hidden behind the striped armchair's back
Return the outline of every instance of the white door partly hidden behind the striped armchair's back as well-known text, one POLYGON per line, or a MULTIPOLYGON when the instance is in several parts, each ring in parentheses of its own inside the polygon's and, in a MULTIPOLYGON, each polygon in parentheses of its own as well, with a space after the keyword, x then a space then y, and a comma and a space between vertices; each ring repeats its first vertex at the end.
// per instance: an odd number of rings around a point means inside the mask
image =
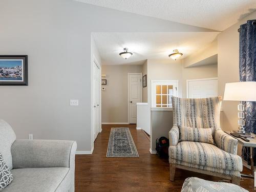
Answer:
POLYGON ((218 96, 218 79, 187 80, 187 98, 207 98, 218 96))

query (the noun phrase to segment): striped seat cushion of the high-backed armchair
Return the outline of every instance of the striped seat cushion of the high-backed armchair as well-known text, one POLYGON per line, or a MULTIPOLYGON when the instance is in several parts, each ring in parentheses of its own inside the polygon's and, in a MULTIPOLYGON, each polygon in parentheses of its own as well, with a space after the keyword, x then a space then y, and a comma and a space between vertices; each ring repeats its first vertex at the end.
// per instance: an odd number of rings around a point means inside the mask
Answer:
POLYGON ((199 168, 214 167, 239 172, 243 169, 240 156, 229 154, 208 143, 181 141, 176 146, 169 146, 169 162, 173 162, 172 159, 178 164, 190 163, 199 168))

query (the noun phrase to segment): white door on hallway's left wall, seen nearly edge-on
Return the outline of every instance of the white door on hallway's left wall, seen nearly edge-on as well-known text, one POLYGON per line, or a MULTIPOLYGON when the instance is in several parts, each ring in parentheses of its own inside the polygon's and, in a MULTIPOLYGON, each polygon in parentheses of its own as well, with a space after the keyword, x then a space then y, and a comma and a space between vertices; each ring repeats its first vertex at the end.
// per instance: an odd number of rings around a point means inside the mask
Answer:
POLYGON ((97 138, 99 134, 99 92, 100 92, 100 70, 97 64, 94 62, 94 70, 93 70, 93 109, 94 109, 94 119, 93 119, 93 135, 94 140, 97 138))

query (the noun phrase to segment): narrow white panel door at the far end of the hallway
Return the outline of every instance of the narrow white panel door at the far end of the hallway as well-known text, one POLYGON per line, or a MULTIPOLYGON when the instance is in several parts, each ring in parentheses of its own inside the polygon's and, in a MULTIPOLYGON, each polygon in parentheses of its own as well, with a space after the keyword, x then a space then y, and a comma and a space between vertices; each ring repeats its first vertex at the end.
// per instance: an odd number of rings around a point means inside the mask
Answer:
POLYGON ((137 122, 137 102, 141 102, 141 73, 129 73, 128 74, 128 101, 129 101, 129 123, 137 122))

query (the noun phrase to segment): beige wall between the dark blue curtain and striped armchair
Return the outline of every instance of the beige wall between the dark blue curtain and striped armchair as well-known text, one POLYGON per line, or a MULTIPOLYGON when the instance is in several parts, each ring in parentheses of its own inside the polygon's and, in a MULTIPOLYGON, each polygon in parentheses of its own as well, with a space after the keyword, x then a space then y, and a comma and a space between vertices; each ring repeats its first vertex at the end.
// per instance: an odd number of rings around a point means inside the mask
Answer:
MULTIPOLYGON (((255 19, 256 12, 232 25, 218 35, 218 93, 223 97, 226 82, 239 81, 239 32, 240 25, 249 19, 255 19)), ((223 130, 238 130, 238 102, 222 101, 223 113, 221 126, 223 130)), ((238 154, 242 146, 239 145, 238 154)))

